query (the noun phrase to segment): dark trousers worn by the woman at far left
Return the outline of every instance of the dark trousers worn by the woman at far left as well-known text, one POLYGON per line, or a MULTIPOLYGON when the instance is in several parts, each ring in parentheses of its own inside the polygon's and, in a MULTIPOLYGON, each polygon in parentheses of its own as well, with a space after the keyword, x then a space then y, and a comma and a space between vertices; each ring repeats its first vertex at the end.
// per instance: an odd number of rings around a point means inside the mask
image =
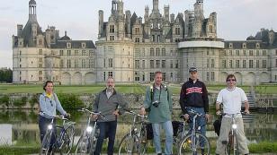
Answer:
MULTIPOLYGON (((52 119, 46 118, 44 116, 39 116, 39 128, 40 128, 40 142, 42 143, 44 135, 47 131, 48 125, 51 123, 52 119)), ((50 141, 50 150, 52 148, 53 143, 56 140, 56 133, 57 133, 57 128, 56 128, 56 120, 54 120, 54 125, 53 125, 53 133, 51 136, 51 141, 50 141)))

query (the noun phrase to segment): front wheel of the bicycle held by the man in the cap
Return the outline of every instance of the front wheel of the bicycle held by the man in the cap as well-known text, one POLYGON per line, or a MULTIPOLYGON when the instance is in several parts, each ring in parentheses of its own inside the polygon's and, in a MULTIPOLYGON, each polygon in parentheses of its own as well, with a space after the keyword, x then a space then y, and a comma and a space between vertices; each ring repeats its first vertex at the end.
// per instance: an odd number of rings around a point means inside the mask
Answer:
POLYGON ((210 154, 210 142, 201 133, 186 135, 180 143, 179 155, 210 154))

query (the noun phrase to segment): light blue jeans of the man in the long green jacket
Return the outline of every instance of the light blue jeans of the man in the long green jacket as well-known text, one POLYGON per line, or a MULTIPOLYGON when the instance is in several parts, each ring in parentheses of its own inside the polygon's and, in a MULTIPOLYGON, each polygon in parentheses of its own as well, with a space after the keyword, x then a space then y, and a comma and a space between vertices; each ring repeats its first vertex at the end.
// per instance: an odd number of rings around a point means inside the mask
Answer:
POLYGON ((165 154, 172 154, 173 127, 171 121, 152 124, 156 153, 162 153, 160 140, 160 125, 162 125, 162 127, 165 130, 165 154))

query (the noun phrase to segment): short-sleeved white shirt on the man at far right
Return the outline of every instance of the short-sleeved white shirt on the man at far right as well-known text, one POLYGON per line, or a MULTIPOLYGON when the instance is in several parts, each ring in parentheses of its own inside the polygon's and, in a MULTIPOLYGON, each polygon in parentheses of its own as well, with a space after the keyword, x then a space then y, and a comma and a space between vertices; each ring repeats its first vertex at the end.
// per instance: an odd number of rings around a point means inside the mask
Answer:
POLYGON ((247 100, 246 93, 241 88, 234 90, 223 89, 219 91, 217 102, 223 104, 223 112, 226 114, 240 113, 241 104, 247 100))

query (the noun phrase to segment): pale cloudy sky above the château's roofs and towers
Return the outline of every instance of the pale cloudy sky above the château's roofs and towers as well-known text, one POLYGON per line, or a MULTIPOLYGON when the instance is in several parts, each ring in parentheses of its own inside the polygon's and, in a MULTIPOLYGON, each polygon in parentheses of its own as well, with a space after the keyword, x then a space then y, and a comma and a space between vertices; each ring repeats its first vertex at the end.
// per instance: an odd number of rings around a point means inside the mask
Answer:
MULTIPOLYGON (((98 11, 103 10, 104 21, 111 15, 112 0, 36 0, 37 20, 44 31, 55 26, 59 36, 71 39, 97 40, 98 11)), ((144 16, 144 8, 153 0, 123 0, 124 13, 130 10, 144 16)), ((196 0, 159 0, 159 11, 169 4, 170 13, 193 10, 196 0)), ((27 23, 29 0, 0 0, 0 68, 13 67, 12 36, 16 25, 27 23)), ((226 40, 245 40, 264 29, 277 31, 277 0, 204 0, 204 14, 218 13, 218 37, 226 40)))

